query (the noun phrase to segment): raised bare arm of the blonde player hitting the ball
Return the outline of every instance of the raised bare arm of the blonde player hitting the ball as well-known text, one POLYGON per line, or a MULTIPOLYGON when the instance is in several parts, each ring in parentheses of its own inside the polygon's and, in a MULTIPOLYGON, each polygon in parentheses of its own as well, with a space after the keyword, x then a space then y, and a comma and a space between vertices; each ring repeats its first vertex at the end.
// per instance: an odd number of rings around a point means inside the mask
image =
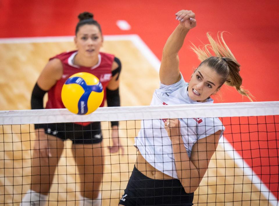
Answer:
POLYGON ((196 26, 195 14, 191 10, 181 10, 175 15, 179 24, 164 46, 159 72, 161 83, 166 85, 180 80, 178 51, 188 31, 196 26))

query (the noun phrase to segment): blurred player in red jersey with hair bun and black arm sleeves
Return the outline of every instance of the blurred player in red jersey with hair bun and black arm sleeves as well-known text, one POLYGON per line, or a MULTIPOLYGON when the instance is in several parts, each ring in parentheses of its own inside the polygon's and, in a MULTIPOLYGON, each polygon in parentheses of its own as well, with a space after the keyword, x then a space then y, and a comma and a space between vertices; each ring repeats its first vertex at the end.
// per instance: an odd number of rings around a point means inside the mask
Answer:
MULTIPOLYGON (((81 13, 74 42, 77 50, 50 59, 42 70, 32 92, 31 108, 44 109, 43 97, 48 93, 46 109, 65 108, 61 89, 65 81, 78 72, 89 72, 99 78, 108 106, 120 106, 119 74, 121 62, 111 54, 100 52, 103 44, 101 27, 88 12, 81 13)), ((101 106, 104 105, 104 100, 101 106)), ((110 152, 123 152, 118 141, 118 122, 111 122, 110 152)), ((100 122, 54 123, 35 125, 36 141, 32 156, 31 190, 22 205, 44 205, 56 166, 64 148, 64 140, 73 141, 72 152, 80 174, 82 205, 101 205, 99 186, 102 182, 102 134, 100 122), (86 155, 85 155, 86 154, 86 155)), ((50 200, 51 201, 51 200, 50 200)))

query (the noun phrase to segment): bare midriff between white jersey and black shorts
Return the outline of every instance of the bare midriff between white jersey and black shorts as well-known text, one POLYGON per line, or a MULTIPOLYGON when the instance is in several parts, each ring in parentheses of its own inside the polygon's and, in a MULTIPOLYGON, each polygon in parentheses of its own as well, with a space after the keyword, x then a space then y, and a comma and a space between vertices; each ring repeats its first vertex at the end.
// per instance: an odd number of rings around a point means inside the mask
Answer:
POLYGON ((162 173, 161 171, 155 169, 151 164, 149 164, 143 157, 140 151, 137 152, 137 161, 135 167, 138 171, 144 174, 146 177, 155 180, 166 180, 174 179, 173 177, 162 173))

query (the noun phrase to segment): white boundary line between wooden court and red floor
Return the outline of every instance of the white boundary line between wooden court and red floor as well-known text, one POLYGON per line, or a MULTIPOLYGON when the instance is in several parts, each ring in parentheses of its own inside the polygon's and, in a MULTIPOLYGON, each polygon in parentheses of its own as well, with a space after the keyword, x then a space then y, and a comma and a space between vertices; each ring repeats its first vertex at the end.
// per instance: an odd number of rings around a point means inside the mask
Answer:
MULTIPOLYGON (((31 37, 31 38, 0 38, 0 44, 12 44, 12 43, 36 43, 36 42, 71 42, 74 36, 58 36, 58 37, 31 37)), ((155 54, 149 49, 145 42, 137 34, 130 35, 104 35, 105 41, 117 41, 117 40, 130 40, 133 42, 135 47, 139 49, 142 55, 149 61, 149 63, 159 72, 160 60, 155 56, 155 54)), ((251 182, 261 191, 264 197, 269 200, 271 205, 279 205, 279 201, 273 195, 271 191, 266 187, 266 185, 260 180, 260 178, 253 172, 253 170, 248 166, 248 164, 242 159, 242 157, 237 153, 228 140, 224 137, 222 146, 225 151, 234 158, 234 161, 239 166, 243 168, 243 172, 251 180, 251 182)))

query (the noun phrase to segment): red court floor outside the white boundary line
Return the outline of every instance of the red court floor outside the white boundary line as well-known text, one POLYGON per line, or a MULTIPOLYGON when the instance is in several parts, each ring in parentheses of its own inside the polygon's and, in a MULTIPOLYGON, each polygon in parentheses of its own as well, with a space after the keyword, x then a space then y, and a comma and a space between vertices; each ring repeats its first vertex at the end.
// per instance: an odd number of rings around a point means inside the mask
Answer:
MULTIPOLYGON (((165 41, 178 24, 174 14, 181 9, 193 10, 197 19, 196 28, 189 32, 180 51, 180 69, 185 79, 190 78, 193 69, 199 64, 195 54, 188 47, 189 41, 200 45, 200 41, 207 43, 206 32, 210 31, 216 36, 218 31, 228 31, 224 38, 241 64, 244 88, 251 91, 255 101, 279 100, 278 0, 1 0, 0 38, 74 35, 77 15, 83 11, 90 11, 101 24, 104 35, 137 34, 160 59, 165 41), (120 30, 116 25, 119 19, 126 20, 131 29, 120 30)), ((235 90, 228 88, 221 90, 221 97, 215 97, 215 102, 242 101, 247 102, 248 99, 242 99, 235 90)), ((268 129, 263 128, 263 131, 268 129)), ((264 174, 260 177, 263 182, 273 182, 267 187, 278 198, 278 128, 276 130, 274 127, 271 130, 274 131, 269 133, 273 134, 273 149, 264 149, 271 147, 267 135, 250 138, 258 139, 262 144, 269 144, 269 147, 245 144, 243 139, 242 142, 233 143, 233 146, 240 151, 239 154, 250 166, 255 166, 255 173, 264 174), (245 148, 257 146, 258 149, 253 150, 255 153, 251 157, 251 153, 241 152, 243 145, 245 148), (270 152, 268 157, 263 155, 267 152, 270 152), (277 166, 272 166, 272 162, 277 166), (267 167, 263 167, 264 164, 267 164, 267 167)))

